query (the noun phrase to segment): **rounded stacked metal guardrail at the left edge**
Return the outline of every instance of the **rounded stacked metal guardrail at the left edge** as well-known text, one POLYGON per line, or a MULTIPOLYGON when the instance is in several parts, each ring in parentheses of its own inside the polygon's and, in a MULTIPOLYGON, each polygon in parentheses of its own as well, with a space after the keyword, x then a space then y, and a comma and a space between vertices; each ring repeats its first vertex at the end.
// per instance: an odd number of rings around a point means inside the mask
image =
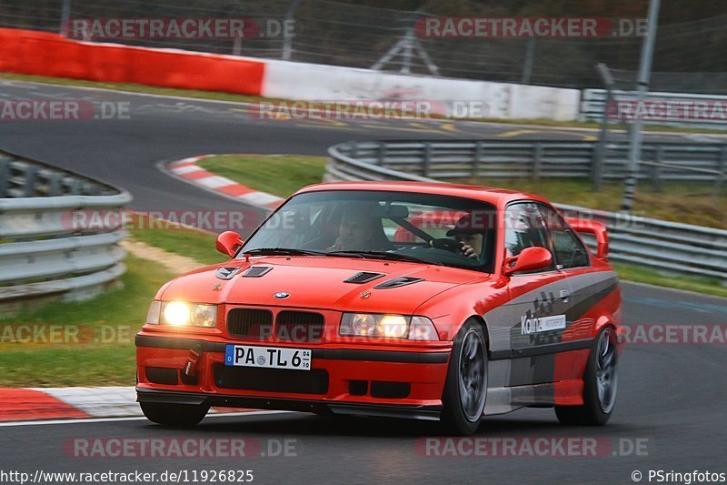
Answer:
POLYGON ((0 151, 0 197, 0 305, 85 298, 124 274, 121 217, 84 221, 126 206, 128 192, 0 151))

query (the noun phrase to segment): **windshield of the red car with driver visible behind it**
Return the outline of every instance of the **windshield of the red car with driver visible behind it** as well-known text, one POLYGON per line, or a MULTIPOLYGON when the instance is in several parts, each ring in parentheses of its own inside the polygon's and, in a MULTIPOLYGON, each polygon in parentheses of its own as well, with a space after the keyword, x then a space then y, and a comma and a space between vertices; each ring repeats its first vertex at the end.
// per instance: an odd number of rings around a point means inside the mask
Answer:
POLYGON ((495 209, 478 200, 410 192, 329 190, 291 198, 237 257, 380 258, 492 273, 495 209))

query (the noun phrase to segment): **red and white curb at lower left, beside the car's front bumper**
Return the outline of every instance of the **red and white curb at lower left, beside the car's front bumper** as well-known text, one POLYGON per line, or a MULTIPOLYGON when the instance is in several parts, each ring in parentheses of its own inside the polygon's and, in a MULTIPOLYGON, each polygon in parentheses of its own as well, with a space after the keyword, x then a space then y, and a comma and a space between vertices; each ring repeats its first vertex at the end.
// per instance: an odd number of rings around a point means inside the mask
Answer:
MULTIPOLYGON (((218 408, 210 412, 244 410, 218 408)), ((133 387, 0 388, 0 422, 142 415, 133 387)))

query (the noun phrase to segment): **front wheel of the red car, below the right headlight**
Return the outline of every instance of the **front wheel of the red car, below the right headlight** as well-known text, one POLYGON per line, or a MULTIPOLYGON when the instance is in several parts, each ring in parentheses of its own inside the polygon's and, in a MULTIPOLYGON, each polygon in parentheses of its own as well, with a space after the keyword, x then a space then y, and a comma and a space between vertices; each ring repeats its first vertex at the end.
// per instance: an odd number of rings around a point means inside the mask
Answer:
POLYGON ((487 348, 483 328, 467 320, 454 338, 442 396, 442 423, 456 436, 471 436, 480 426, 487 399, 487 348))

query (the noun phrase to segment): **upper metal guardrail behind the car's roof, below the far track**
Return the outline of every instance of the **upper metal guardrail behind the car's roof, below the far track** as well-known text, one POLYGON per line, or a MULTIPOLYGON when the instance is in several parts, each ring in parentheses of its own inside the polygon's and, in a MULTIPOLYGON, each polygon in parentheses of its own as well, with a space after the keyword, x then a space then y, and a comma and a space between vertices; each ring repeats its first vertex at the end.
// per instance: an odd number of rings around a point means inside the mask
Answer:
MULTIPOLYGON (((628 175, 628 144, 607 143, 596 167, 597 142, 549 140, 366 141, 335 153, 365 164, 437 179, 598 177, 628 175), (598 168, 598 170, 596 170, 598 168)), ((727 144, 644 143, 639 177, 660 182, 712 182, 727 177, 727 144), (654 169, 653 165, 658 164, 654 169)), ((370 168, 367 168, 370 169, 370 168)))

